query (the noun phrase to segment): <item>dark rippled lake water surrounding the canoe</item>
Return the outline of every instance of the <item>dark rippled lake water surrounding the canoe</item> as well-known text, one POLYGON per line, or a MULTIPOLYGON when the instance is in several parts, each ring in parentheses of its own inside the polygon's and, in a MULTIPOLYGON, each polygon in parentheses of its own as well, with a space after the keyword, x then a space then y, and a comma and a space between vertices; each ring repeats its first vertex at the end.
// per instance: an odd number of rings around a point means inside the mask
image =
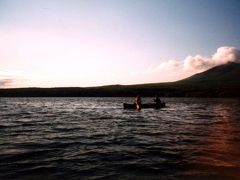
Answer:
POLYGON ((131 101, 1 98, 0 179, 240 178, 239 99, 131 101))

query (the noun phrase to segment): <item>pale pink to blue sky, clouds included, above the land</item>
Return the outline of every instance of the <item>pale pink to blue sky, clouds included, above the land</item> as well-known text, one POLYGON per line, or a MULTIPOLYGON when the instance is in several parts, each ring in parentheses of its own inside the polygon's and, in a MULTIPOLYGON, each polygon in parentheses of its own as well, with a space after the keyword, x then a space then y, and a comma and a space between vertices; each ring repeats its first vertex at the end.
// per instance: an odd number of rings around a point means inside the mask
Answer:
POLYGON ((0 0, 0 88, 176 81, 240 61, 239 0, 0 0))

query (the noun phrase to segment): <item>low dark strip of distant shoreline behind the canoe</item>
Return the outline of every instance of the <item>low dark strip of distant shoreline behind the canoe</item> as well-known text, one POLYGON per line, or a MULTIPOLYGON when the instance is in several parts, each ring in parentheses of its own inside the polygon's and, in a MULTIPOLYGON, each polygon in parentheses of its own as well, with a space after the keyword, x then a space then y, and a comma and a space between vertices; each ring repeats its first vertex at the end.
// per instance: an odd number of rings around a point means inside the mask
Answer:
POLYGON ((100 87, 0 89, 0 97, 240 97, 239 85, 200 85, 197 83, 157 83, 100 87))

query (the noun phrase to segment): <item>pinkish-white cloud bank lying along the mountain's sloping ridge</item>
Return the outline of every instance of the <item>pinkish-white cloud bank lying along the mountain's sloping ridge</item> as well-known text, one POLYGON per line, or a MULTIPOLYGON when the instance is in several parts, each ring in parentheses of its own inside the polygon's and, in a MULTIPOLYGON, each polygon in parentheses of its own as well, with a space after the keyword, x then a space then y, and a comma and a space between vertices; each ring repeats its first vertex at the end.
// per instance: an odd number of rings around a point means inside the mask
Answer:
POLYGON ((133 78, 144 79, 147 82, 169 82, 189 77, 206 71, 212 67, 228 62, 240 63, 240 50, 235 47, 219 47, 210 57, 202 55, 187 56, 184 60, 169 60, 155 68, 148 68, 144 73, 134 73, 133 78), (141 75, 140 75, 141 74, 141 75), (146 76, 148 76, 146 78, 146 76))

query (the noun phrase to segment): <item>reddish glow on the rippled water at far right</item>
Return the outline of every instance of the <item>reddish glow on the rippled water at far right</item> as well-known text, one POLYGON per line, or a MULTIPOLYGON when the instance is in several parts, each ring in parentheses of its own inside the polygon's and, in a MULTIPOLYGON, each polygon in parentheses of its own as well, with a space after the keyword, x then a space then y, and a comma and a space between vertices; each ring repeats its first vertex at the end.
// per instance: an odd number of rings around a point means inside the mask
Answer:
POLYGON ((240 137, 239 137, 239 104, 224 101, 212 105, 215 121, 209 127, 209 136, 205 139, 203 154, 198 163, 205 169, 205 174, 217 174, 229 178, 239 177, 240 137))

